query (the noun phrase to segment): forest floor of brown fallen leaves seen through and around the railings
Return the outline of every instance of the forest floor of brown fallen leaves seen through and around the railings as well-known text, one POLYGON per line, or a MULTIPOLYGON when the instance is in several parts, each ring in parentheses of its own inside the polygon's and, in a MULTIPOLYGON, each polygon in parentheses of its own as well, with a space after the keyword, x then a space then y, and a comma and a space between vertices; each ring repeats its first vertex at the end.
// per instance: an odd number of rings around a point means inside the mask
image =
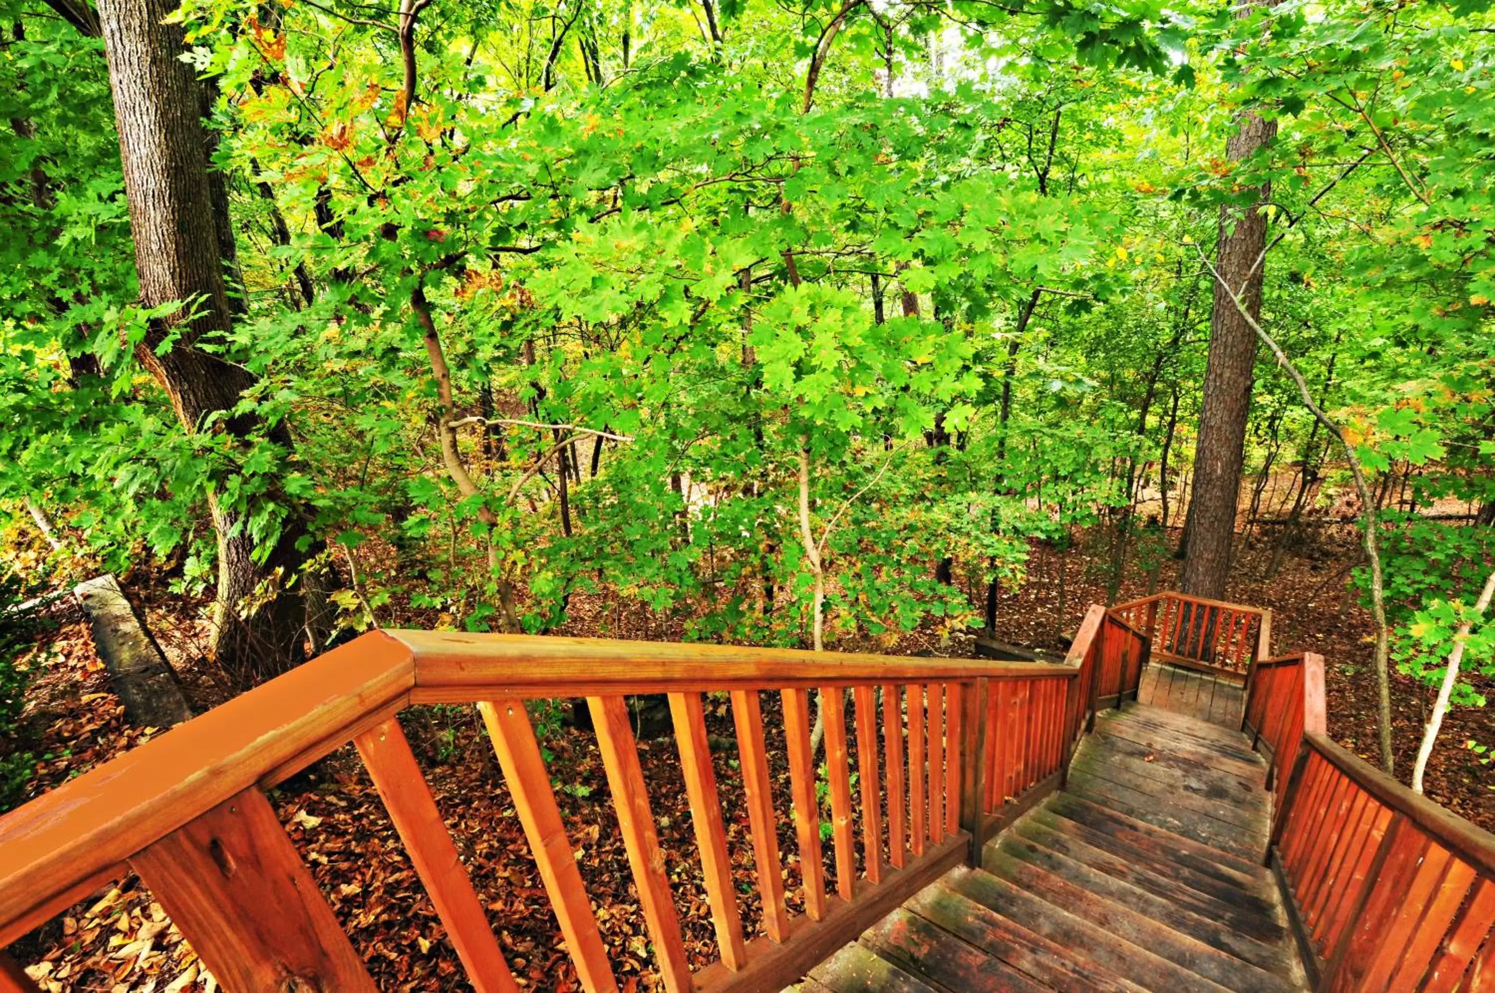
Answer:
MULTIPOLYGON (((1271 547, 1244 547, 1227 597, 1271 607, 1274 651, 1317 651, 1326 660, 1329 731, 1362 757, 1375 751, 1375 685, 1369 667, 1368 613, 1344 594, 1348 568, 1359 561, 1356 535, 1348 528, 1316 531, 1301 553, 1289 555, 1271 580, 1263 579, 1271 547)), ((1105 600, 1103 555, 1073 547, 1064 553, 1035 547, 1027 582, 999 603, 997 634, 1012 643, 1060 648, 1090 603, 1105 600), (1060 613, 1060 588, 1064 610, 1060 613)), ((1177 562, 1163 559, 1156 582, 1166 589, 1177 562)), ((1147 594, 1147 576, 1130 576, 1121 600, 1147 594)), ((132 589, 136 598, 142 594, 132 589)), ((173 618, 179 601, 144 594, 145 613, 175 661, 191 657, 190 636, 173 642, 184 622, 173 618)), ((616 613, 598 598, 573 604, 567 634, 597 633, 605 613, 616 613)), ((37 677, 28 691, 27 721, 40 733, 42 757, 28 796, 49 788, 118 755, 155 734, 132 728, 118 698, 109 691, 87 628, 73 612, 60 609, 55 625, 39 639, 31 657, 37 677)), ((668 622, 637 619, 637 630, 610 637, 671 634, 668 622)), ((857 645, 839 643, 837 649, 857 645)), ((887 651, 887 649, 884 649, 887 651)), ((967 639, 942 640, 913 633, 896 651, 919 655, 969 654, 967 639)), ((184 665, 188 686, 200 706, 221 698, 221 691, 184 665)), ((1422 730, 1422 707, 1431 694, 1393 676, 1395 745, 1398 772, 1405 778, 1422 730)), ((1495 686, 1482 688, 1495 695, 1495 686)), ((774 805, 789 809, 788 761, 782 746, 777 694, 764 694, 764 725, 774 778, 774 805)), ((597 909, 602 938, 625 990, 662 989, 652 968, 647 935, 626 855, 611 812, 595 737, 565 721, 565 704, 537 715, 537 724, 556 799, 577 851, 582 875, 597 909)), ((854 715, 848 715, 851 719, 854 715)), ((516 978, 535 990, 580 989, 559 927, 549 911, 528 843, 513 803, 471 707, 414 707, 402 718, 417 758, 446 814, 451 834, 484 900, 516 978)), ((707 730, 713 737, 716 776, 725 811, 728 846, 739 884, 743 924, 761 933, 761 905, 755 885, 750 839, 742 782, 736 769, 733 722, 724 700, 707 698, 707 730)), ((1483 710, 1456 710, 1444 725, 1428 772, 1428 796, 1471 821, 1495 828, 1495 776, 1489 764, 1465 748, 1488 745, 1491 719, 1483 710)), ((855 767, 855 736, 852 736, 855 767)), ((640 758, 649 799, 665 849, 667 872, 680 914, 686 947, 700 966, 716 957, 704 887, 695 866, 694 837, 683 781, 673 742, 641 737, 640 758)), ((1374 760, 1372 760, 1374 761, 1374 760)), ((311 866, 354 945, 363 954, 380 989, 446 990, 463 986, 462 969, 444 938, 444 929, 407 858, 378 796, 351 748, 336 752, 311 770, 281 784, 271 796, 293 842, 311 866)), ((858 799, 860 803, 860 799, 858 799)), ((858 811, 860 833, 860 811, 858 811)), ((800 908, 800 866, 791 823, 779 824, 780 855, 791 912, 800 908)), ((834 879, 830 845, 824 863, 828 885, 834 879)), ((160 905, 130 876, 94 894, 60 918, 12 945, 10 953, 48 992, 109 990, 184 993, 215 989, 160 905)))

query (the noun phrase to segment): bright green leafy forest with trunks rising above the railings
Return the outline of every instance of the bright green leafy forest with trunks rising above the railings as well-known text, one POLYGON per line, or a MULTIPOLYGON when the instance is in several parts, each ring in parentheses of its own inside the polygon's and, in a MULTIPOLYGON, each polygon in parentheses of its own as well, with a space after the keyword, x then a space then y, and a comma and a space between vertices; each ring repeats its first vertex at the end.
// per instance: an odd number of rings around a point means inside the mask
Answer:
POLYGON ((1347 516, 1483 703, 1486 3, 0 7, 6 565, 161 577, 227 685, 579 598, 888 648, 1347 516))

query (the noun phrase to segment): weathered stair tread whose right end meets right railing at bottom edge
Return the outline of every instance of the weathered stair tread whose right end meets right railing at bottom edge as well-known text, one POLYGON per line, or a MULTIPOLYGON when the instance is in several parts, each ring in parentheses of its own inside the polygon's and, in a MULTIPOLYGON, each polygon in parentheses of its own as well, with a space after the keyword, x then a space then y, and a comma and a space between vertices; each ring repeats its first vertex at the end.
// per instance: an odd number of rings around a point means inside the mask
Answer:
POLYGON ((1236 993, 1281 993, 1293 987, 1281 977, 1223 953, 1197 938, 1078 887, 1002 849, 987 849, 985 870, 1012 887, 1081 917, 1106 933, 1172 962, 1236 993))

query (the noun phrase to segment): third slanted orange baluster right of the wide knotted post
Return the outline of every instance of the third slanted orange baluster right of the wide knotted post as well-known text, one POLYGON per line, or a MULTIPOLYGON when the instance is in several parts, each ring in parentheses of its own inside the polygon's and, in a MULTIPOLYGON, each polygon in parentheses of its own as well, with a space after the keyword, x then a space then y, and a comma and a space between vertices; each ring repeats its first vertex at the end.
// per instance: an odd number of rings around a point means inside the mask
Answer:
POLYGON ((634 870, 638 903, 643 905, 659 974, 670 993, 691 990, 691 962, 680 941, 680 918, 676 917, 670 879, 664 872, 664 852, 659 851, 659 836, 649 809, 649 790, 638 766, 628 704, 622 697, 588 697, 586 704, 592 712, 597 746, 602 752, 607 788, 617 814, 617 830, 634 870))

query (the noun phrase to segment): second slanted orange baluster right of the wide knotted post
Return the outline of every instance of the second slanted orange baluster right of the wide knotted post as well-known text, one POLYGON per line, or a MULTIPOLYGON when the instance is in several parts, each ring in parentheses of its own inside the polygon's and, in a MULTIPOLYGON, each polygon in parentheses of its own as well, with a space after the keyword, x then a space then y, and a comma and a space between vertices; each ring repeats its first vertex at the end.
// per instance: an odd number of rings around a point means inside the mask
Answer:
POLYGON ((540 879, 550 897, 550 909, 561 924, 576 965, 577 978, 588 993, 616 993, 617 981, 607 960, 602 935, 597 929, 592 903, 586 897, 582 872, 576 866, 571 839, 561 823, 550 788, 550 773, 540 755, 540 742, 529 724, 523 700, 495 700, 477 704, 483 725, 504 772, 504 784, 514 800, 514 812, 525 828, 529 851, 540 869, 540 879))

